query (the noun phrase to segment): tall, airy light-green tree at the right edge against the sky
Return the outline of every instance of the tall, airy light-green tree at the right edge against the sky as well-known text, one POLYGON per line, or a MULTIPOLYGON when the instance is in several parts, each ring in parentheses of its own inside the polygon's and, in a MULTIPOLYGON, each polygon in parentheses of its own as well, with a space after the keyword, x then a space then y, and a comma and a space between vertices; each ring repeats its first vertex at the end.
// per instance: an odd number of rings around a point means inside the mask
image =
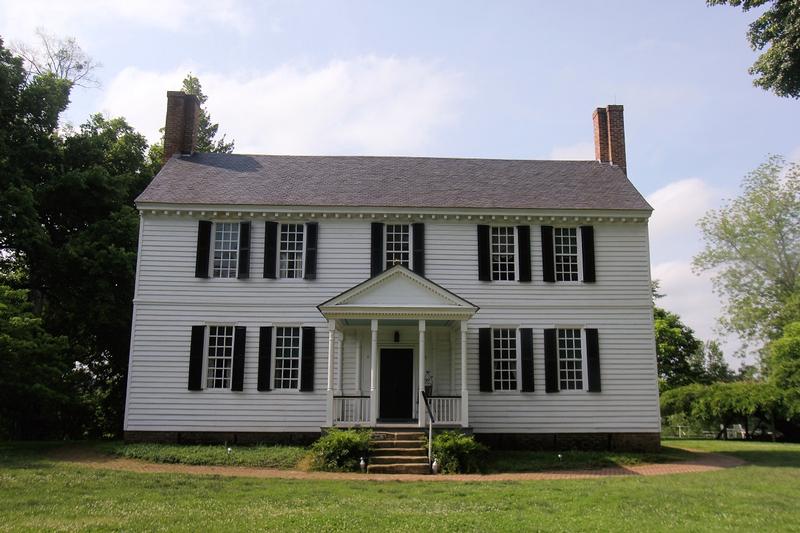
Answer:
POLYGON ((720 323, 745 340, 779 336, 800 307, 800 165, 771 156, 742 182, 741 196, 700 219, 697 272, 711 272, 727 299, 720 323))

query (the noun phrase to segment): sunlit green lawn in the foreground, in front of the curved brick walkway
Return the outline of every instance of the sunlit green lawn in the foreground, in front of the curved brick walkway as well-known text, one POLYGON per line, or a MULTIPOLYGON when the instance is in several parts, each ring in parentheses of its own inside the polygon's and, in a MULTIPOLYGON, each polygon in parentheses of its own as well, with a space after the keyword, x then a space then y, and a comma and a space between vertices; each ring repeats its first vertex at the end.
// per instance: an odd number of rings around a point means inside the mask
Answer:
POLYGON ((800 445, 669 442, 751 464, 530 482, 297 481, 91 470, 0 445, 0 531, 797 531, 800 445))

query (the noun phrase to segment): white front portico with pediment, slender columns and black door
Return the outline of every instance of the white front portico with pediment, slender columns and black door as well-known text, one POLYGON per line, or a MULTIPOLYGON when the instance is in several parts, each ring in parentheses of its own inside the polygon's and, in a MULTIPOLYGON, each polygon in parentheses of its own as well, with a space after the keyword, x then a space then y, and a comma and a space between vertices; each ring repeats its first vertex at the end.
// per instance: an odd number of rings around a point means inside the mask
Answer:
POLYGON ((397 265, 320 304, 331 426, 469 425, 467 328, 478 307, 397 265))

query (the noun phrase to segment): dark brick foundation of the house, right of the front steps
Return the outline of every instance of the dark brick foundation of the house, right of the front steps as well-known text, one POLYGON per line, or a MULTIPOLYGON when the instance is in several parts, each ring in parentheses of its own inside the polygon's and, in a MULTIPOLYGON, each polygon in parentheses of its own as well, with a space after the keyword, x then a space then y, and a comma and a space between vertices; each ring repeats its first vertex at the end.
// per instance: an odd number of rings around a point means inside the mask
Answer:
POLYGON ((656 452, 661 433, 475 433, 495 450, 613 450, 656 452))

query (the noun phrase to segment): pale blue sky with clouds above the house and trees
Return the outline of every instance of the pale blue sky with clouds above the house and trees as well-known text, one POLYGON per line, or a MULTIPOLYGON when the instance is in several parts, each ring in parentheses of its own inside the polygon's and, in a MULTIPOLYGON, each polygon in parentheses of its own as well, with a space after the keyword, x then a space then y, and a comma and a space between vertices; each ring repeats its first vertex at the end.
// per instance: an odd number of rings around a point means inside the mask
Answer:
POLYGON ((702 0, 0 0, 0 35, 76 37, 102 86, 77 90, 67 120, 122 115, 153 140, 191 70, 238 152, 593 159, 592 110, 623 104, 662 303, 712 338, 694 221, 768 153, 800 159, 800 103, 747 73, 756 14, 702 0))

